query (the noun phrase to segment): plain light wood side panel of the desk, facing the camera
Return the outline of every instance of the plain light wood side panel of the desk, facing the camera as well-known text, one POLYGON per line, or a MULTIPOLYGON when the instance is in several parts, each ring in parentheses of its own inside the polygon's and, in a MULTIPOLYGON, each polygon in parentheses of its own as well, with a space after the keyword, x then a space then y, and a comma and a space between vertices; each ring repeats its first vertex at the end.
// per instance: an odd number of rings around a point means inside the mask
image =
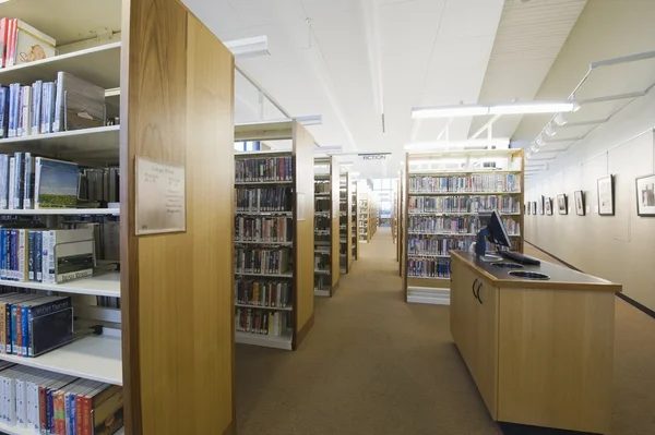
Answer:
POLYGON ((609 433, 615 297, 501 289, 500 421, 609 433))

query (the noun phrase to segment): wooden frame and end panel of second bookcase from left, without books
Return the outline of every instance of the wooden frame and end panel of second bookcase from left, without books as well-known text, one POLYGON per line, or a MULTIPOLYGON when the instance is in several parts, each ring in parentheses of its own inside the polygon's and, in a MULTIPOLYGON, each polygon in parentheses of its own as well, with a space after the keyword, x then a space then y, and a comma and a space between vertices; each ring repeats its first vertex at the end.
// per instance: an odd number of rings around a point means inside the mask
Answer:
MULTIPOLYGON (((245 184, 252 184, 271 188, 279 185, 288 188, 291 193, 291 246, 290 246, 290 268, 284 274, 264 275, 269 278, 279 278, 288 280, 291 286, 290 310, 272 310, 266 306, 250 306, 250 310, 260 310, 262 312, 281 311, 289 313, 289 324, 285 331, 279 335, 253 334, 249 331, 236 330, 235 319, 235 339, 237 343, 270 347, 284 350, 295 350, 300 346, 302 339, 307 336, 313 325, 313 282, 314 282, 314 173, 307 168, 313 168, 313 137, 307 129, 297 121, 260 122, 251 124, 239 124, 235 126, 236 141, 275 141, 291 140, 291 149, 288 152, 266 150, 253 153, 238 153, 235 160, 251 160, 253 158, 285 157, 290 158, 291 172, 290 183, 250 183, 245 182, 238 185, 245 189, 245 184)), ((233 180, 234 183, 234 180, 233 180)), ((238 194, 238 192, 237 192, 238 194)), ((240 212, 235 210, 238 216, 240 212)), ((264 212, 261 216, 267 216, 264 212)), ((252 214, 250 215, 252 216, 252 214)), ((288 217, 288 213, 283 214, 288 217)), ((238 246, 239 242, 235 241, 238 246)), ((257 243, 254 243, 257 245, 257 243)), ((249 244, 252 246, 252 244, 249 244)), ((269 247, 266 247, 269 249, 269 247)), ((252 276, 252 274, 248 274, 252 276)), ((236 276, 246 276, 241 270, 236 276)), ((235 301, 235 311, 243 309, 243 304, 235 301)))

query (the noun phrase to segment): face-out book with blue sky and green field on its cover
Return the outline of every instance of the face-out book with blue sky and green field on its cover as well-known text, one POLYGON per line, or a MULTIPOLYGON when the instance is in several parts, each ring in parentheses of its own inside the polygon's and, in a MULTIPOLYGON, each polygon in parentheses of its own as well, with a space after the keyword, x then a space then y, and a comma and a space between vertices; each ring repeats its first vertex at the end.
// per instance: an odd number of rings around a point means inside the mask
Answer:
POLYGON ((76 164, 36 157, 34 208, 74 208, 78 177, 76 164))

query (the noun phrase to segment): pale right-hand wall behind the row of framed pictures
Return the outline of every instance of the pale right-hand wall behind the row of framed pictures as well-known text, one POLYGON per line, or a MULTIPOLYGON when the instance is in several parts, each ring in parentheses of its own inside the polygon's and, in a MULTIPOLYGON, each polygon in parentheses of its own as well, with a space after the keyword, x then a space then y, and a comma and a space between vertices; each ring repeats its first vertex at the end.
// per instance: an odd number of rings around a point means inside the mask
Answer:
POLYGON ((583 271, 623 285, 623 293, 655 310, 655 217, 636 216, 635 177, 655 172, 655 92, 634 100, 593 131, 540 179, 526 182, 526 201, 553 198, 553 215, 525 217, 526 241, 583 271), (643 134, 642 134, 643 133, 643 134), (597 213, 596 181, 615 176, 615 216, 597 213), (590 212, 576 216, 573 192, 590 212), (558 215, 557 195, 571 213, 558 215))

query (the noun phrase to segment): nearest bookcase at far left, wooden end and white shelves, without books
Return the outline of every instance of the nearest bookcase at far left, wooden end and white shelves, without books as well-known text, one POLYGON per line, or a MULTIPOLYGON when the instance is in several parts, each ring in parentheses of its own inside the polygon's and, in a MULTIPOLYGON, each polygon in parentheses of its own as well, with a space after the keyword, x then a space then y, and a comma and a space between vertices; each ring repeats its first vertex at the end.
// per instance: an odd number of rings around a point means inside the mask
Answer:
MULTIPOLYGON (((12 0, 0 3, 0 16, 52 36, 60 52, 0 69, 0 83, 52 81, 66 71, 105 88, 108 114, 120 114, 120 125, 1 138, 0 154, 118 165, 121 197, 119 208, 0 210, 49 227, 119 220, 121 266, 60 285, 0 281, 72 295, 75 316, 105 326, 36 358, 0 360, 123 386, 118 434, 233 433, 231 53, 174 1, 12 0), (143 206, 134 198, 136 156, 186 166, 186 231, 135 234, 143 206), (98 306, 96 297, 118 298, 120 309, 98 306), (170 333, 182 327, 188 334, 170 333), (199 358, 200 349, 211 358, 199 358), (183 382, 162 389, 166 378, 183 382)), ((7 424, 0 432, 33 433, 7 424)))

